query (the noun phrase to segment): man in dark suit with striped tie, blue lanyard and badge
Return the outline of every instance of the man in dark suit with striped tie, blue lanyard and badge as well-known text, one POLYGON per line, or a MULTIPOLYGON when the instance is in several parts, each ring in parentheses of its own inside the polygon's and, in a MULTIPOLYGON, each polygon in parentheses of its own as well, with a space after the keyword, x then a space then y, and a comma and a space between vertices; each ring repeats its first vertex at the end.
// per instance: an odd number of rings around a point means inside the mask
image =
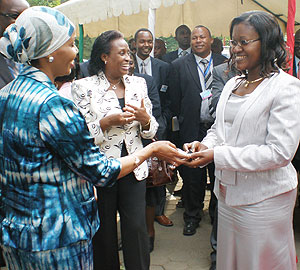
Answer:
MULTIPOLYGON (((171 109, 179 121, 181 146, 201 141, 213 123, 209 114, 212 69, 226 58, 211 52, 213 39, 205 26, 199 25, 191 33, 192 54, 171 63, 169 87, 171 109)), ((214 181, 214 165, 209 164, 210 181, 214 181)), ((188 168, 180 171, 184 182, 184 235, 193 235, 202 218, 207 171, 205 168, 188 168)), ((212 213, 214 211, 212 210, 212 213)), ((213 222, 213 216, 211 216, 213 222)))

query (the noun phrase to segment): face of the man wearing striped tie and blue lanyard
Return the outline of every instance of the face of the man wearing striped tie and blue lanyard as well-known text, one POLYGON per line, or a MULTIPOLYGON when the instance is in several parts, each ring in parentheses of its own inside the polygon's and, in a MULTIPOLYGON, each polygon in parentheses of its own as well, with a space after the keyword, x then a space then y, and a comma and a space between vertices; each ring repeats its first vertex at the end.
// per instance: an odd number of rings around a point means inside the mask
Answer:
POLYGON ((205 58, 211 51, 213 39, 204 27, 197 27, 192 32, 191 46, 194 54, 205 58))

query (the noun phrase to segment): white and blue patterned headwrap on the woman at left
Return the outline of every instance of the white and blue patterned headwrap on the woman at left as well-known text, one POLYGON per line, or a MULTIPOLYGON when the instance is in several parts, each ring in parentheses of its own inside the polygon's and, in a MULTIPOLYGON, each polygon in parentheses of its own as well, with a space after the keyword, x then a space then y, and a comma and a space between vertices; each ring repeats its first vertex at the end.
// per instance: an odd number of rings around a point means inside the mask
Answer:
POLYGON ((19 63, 50 55, 72 36, 75 28, 61 12, 49 7, 31 7, 6 28, 0 52, 19 63))

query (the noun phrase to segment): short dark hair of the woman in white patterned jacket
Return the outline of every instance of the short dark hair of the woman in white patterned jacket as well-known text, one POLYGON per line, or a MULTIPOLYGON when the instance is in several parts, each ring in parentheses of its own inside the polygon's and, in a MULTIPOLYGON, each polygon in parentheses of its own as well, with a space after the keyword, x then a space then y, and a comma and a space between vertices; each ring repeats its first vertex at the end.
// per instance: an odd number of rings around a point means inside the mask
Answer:
POLYGON ((104 71, 105 63, 101 59, 102 54, 109 54, 111 43, 116 39, 124 38, 123 34, 116 30, 109 30, 98 36, 93 44, 88 71, 90 76, 104 71))

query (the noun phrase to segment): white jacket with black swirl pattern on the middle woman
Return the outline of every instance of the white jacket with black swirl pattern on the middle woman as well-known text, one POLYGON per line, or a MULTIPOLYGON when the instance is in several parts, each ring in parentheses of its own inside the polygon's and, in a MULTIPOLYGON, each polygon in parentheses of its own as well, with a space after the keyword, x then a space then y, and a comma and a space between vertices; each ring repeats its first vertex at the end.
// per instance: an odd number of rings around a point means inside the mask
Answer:
MULTIPOLYGON (((125 142, 129 154, 142 149, 141 137, 153 138, 158 128, 158 124, 152 116, 152 105, 147 95, 146 81, 140 77, 125 75, 123 82, 126 103, 140 107, 141 99, 144 99, 145 108, 151 115, 149 130, 142 130, 141 124, 133 121, 123 126, 112 126, 102 132, 99 121, 105 116, 122 112, 115 92, 107 90, 110 84, 104 73, 77 80, 72 85, 74 103, 85 117, 95 144, 109 158, 121 156, 123 142, 125 142)), ((147 162, 143 162, 136 168, 134 174, 137 180, 145 179, 148 176, 147 162)))

